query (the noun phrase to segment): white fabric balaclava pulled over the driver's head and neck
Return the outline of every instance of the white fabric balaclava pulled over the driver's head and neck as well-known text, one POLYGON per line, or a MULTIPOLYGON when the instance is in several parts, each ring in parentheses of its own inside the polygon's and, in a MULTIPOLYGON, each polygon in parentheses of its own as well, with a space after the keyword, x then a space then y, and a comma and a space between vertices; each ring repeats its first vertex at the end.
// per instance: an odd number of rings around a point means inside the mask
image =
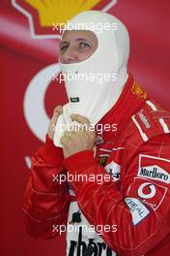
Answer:
POLYGON ((60 139, 65 130, 75 124, 71 121, 71 113, 86 116, 91 124, 97 124, 115 105, 128 80, 129 36, 126 26, 118 18, 99 11, 87 11, 72 17, 66 29, 94 32, 98 48, 84 61, 69 64, 59 61, 65 79, 68 78, 65 85, 69 98, 54 133, 54 144, 61 147, 60 139), (80 76, 83 74, 85 77, 80 76))

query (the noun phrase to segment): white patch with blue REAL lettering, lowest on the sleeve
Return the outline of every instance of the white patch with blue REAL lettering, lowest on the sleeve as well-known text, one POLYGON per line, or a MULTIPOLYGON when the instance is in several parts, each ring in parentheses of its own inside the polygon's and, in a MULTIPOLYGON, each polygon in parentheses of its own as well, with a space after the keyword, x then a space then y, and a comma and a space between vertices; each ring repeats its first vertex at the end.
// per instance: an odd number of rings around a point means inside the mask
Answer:
POLYGON ((150 210, 146 208, 138 199, 136 198, 126 198, 125 202, 130 210, 132 216, 132 222, 137 225, 140 221, 148 216, 150 210))

